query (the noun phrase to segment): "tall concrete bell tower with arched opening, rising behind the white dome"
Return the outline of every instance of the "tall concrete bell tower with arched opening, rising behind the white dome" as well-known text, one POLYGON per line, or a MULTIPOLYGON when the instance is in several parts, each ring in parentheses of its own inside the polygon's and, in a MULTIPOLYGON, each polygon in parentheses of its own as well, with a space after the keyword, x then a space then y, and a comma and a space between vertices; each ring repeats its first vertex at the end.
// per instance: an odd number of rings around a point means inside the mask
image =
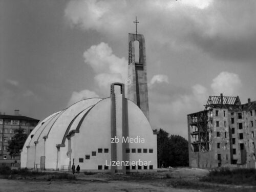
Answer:
MULTIPOLYGON (((136 19, 137 20, 137 19, 136 19)), ((128 85, 128 99, 139 106, 141 111, 149 120, 148 95, 147 95, 147 72, 145 40, 142 34, 129 33, 129 58, 128 78, 131 84, 128 85), (135 50, 134 41, 139 41, 139 50, 135 50), (139 61, 135 61, 135 51, 139 52, 139 61)))

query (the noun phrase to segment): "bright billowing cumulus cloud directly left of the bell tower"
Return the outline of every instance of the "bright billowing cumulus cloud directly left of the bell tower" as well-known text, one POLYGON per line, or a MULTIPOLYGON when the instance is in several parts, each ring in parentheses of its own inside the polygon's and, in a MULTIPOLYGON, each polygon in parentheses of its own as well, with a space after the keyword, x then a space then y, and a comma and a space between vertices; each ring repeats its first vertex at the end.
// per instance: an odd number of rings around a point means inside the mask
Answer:
POLYGON ((114 55, 104 42, 92 46, 84 52, 83 57, 84 62, 93 68, 95 81, 100 88, 109 89, 112 82, 124 82, 127 77, 128 61, 114 55))

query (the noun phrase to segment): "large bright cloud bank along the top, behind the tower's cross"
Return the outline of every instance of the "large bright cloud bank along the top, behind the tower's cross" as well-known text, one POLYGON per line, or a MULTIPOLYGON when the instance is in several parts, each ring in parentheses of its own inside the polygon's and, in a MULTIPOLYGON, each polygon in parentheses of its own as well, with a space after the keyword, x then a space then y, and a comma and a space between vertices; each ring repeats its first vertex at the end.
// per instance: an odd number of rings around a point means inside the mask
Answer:
POLYGON ((117 41, 134 28, 131 15, 137 15, 138 29, 146 29, 143 34, 159 48, 199 48, 215 57, 248 60, 255 59, 255 6, 253 0, 81 0, 70 1, 65 15, 71 25, 117 41))

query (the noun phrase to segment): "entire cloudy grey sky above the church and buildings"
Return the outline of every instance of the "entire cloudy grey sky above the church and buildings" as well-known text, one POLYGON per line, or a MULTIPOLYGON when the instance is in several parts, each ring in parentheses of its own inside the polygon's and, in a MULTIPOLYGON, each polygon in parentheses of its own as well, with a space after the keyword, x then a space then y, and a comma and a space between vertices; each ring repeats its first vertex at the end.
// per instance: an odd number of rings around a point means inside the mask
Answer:
POLYGON ((0 0, 0 112, 36 119, 127 78, 145 37, 150 122, 187 139, 209 95, 256 100, 256 1, 0 0))

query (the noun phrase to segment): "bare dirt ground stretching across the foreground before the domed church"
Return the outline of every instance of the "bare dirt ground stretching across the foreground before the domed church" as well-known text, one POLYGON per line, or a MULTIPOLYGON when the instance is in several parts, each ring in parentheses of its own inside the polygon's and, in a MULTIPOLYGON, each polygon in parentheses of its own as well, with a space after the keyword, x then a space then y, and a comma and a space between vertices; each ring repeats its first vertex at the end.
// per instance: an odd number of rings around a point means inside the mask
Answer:
MULTIPOLYGON (((0 192, 12 191, 174 191, 198 192, 198 189, 180 189, 173 188, 169 184, 169 179, 189 179, 198 180, 198 177, 204 176, 208 170, 191 169, 191 168, 175 168, 175 169, 160 169, 157 174, 152 175, 154 179, 150 179, 149 174, 141 176, 133 175, 111 175, 111 174, 94 174, 84 175, 83 173, 75 174, 77 180, 50 180, 47 181, 45 176, 36 179, 0 179, 0 192), (167 178, 166 178, 167 176, 167 178), (169 179, 168 179, 169 178, 169 179)), ((201 190, 202 191, 202 190, 201 190)))

